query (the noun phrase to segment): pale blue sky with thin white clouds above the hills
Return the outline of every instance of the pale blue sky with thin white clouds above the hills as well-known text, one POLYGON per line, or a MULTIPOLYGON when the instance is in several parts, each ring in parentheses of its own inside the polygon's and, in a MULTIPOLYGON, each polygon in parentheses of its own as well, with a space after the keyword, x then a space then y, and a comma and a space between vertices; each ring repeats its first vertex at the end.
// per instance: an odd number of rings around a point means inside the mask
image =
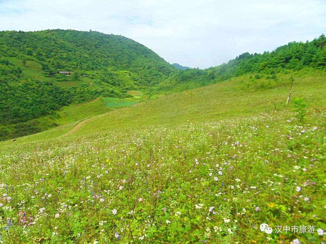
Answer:
POLYGON ((326 34, 326 0, 0 0, 0 30, 123 35, 169 63, 208 68, 326 34))

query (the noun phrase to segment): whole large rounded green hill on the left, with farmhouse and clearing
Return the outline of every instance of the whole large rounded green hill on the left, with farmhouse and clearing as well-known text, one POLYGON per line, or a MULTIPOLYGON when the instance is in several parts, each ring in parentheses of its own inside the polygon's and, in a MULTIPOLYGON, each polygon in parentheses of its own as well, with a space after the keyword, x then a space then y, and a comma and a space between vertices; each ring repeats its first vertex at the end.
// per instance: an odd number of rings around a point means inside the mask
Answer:
POLYGON ((147 47, 99 32, 2 31, 0 54, 1 139, 62 124, 50 118, 44 124, 41 117, 69 104, 134 98, 128 90, 152 93, 175 70, 147 47))

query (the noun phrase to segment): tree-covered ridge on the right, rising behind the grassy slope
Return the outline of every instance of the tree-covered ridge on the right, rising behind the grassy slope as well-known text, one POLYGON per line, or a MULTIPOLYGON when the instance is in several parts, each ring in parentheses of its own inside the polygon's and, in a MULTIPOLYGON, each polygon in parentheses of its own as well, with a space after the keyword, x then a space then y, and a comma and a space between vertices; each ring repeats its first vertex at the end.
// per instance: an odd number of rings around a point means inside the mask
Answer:
POLYGON ((245 52, 228 63, 205 70, 188 69, 176 72, 159 84, 161 91, 181 91, 227 80, 250 72, 275 79, 282 69, 300 70, 303 67, 326 69, 326 37, 324 34, 311 42, 290 42, 272 52, 250 54, 245 52))

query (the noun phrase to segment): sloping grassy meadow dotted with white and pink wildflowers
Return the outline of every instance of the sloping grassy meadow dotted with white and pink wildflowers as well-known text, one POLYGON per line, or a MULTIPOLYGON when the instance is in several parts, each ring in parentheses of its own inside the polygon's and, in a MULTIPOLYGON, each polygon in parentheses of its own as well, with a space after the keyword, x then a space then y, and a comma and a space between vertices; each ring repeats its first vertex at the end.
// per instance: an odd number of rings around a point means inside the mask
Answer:
MULTIPOLYGON (((247 74, 0 142, 0 243, 325 242, 325 77, 247 74)), ((119 104, 83 111, 100 102, 119 104)))

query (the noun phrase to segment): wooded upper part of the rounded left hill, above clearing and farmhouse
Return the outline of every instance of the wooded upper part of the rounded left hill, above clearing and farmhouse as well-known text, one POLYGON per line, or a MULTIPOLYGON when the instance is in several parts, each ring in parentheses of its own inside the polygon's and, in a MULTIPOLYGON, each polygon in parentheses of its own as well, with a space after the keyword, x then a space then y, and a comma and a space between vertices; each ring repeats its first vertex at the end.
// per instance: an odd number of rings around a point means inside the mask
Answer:
POLYGON ((3 57, 38 61, 46 73, 101 71, 110 67, 128 70, 148 83, 157 83, 157 77, 173 71, 169 63, 140 43, 95 31, 2 31, 0 53, 3 57))

